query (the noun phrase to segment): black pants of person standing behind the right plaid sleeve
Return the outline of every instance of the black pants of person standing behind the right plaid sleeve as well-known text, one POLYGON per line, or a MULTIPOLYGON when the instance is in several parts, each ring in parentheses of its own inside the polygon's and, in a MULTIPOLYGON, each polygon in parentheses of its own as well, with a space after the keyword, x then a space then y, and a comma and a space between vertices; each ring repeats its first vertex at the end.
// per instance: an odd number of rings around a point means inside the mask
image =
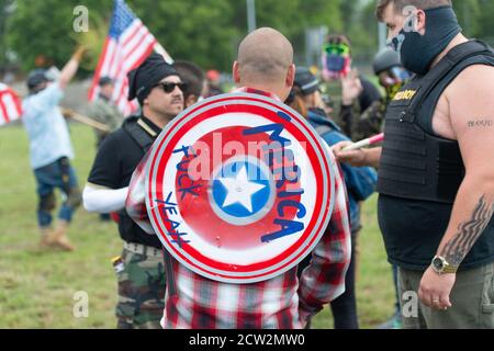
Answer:
MULTIPOLYGON (((355 291, 356 276, 356 239, 357 233, 351 234, 351 260, 345 275, 345 293, 335 298, 330 303, 335 329, 359 329, 359 320, 357 315, 357 297, 355 291)), ((308 254, 300 264, 297 269, 299 278, 302 271, 311 263, 312 256, 308 254)))

